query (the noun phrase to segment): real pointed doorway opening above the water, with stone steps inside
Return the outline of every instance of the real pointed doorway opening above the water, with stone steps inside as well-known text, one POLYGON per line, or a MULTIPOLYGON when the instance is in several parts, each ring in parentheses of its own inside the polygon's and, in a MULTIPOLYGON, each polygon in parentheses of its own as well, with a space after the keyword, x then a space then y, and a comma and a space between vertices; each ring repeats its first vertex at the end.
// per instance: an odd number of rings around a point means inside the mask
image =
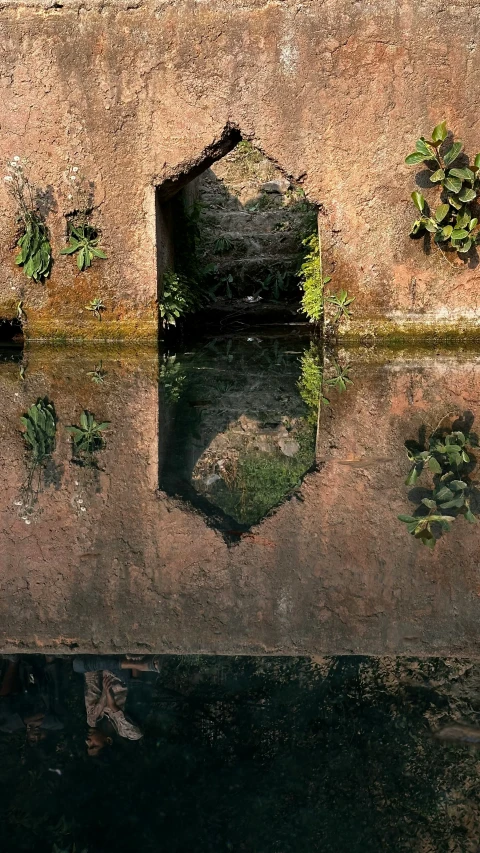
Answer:
POLYGON ((205 321, 224 327, 229 316, 249 324, 299 322, 302 240, 317 232, 317 208, 237 128, 228 125, 157 188, 156 223, 166 329, 177 322, 178 293, 180 303, 183 294, 189 302, 187 328, 205 321), (188 322, 199 312, 198 323, 188 322))

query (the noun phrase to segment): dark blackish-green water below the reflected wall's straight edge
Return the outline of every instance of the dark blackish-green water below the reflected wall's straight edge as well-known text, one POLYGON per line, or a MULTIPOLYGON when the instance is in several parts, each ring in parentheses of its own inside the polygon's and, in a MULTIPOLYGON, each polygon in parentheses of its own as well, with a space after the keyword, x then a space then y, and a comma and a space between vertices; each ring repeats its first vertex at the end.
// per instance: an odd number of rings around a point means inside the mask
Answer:
POLYGON ((478 753, 430 735, 475 717, 475 672, 438 659, 165 657, 129 689, 145 738, 96 762, 70 672, 52 743, 0 734, 0 848, 474 850, 478 753))

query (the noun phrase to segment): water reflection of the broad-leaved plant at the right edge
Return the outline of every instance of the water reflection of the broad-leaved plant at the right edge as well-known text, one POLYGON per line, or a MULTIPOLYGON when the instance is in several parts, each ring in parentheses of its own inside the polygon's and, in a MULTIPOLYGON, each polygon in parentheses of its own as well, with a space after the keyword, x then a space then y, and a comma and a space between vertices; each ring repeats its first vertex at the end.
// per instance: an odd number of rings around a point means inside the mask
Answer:
MULTIPOLYGON (((470 476, 476 465, 472 448, 478 447, 476 434, 470 432, 473 416, 467 413, 453 425, 442 426, 446 417, 428 440, 423 429, 419 441, 405 442, 413 463, 406 485, 414 486, 427 468, 433 476, 433 488, 423 490, 414 515, 398 517, 407 525, 408 532, 429 548, 435 547, 442 532, 450 530, 458 516, 463 515, 471 524, 476 520, 471 505, 478 495, 470 476)), ((417 501, 417 494, 411 497, 417 501)))

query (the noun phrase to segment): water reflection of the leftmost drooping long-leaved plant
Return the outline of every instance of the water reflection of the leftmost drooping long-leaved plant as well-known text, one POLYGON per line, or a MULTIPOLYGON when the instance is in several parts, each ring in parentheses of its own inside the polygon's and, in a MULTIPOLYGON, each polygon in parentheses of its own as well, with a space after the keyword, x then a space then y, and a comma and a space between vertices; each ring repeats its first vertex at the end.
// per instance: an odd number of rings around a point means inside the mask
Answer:
POLYGON ((55 450, 57 432, 57 417, 55 407, 48 397, 39 397, 23 417, 20 418, 25 427, 24 441, 28 447, 28 476, 22 488, 22 500, 25 510, 31 512, 36 496, 40 489, 42 469, 46 466, 55 450), (38 483, 35 487, 35 477, 38 483))

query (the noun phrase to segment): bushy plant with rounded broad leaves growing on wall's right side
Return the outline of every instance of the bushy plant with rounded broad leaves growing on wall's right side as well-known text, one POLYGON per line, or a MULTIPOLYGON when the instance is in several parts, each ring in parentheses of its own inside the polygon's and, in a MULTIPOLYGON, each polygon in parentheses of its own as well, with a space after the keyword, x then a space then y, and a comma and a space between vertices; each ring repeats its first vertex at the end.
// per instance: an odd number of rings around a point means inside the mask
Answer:
POLYGON ((423 163, 430 171, 429 181, 440 190, 435 207, 430 208, 422 193, 412 193, 412 201, 420 213, 410 232, 411 237, 428 232, 440 249, 451 249, 466 255, 480 240, 478 218, 471 206, 480 192, 480 154, 473 165, 466 165, 462 156, 463 144, 448 141, 449 131, 445 121, 433 129, 431 139, 421 136, 415 151, 405 162, 409 166, 423 163))

